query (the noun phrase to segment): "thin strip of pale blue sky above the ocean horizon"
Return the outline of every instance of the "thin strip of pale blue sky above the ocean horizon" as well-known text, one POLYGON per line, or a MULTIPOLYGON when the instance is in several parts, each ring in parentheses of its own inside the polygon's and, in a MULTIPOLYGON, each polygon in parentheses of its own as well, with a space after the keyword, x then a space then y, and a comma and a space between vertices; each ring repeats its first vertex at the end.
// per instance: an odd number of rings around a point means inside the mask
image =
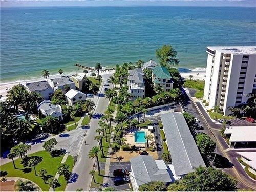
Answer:
POLYGON ((256 0, 0 0, 1 7, 42 6, 248 6, 256 0))

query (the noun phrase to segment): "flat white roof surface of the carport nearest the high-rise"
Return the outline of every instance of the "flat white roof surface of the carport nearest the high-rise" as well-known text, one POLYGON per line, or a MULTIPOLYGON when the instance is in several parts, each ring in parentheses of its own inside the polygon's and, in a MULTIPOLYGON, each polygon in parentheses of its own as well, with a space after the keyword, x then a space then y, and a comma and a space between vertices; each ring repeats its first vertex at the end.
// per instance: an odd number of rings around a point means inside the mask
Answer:
POLYGON ((256 142, 256 126, 230 126, 224 131, 230 135, 229 142, 256 142))

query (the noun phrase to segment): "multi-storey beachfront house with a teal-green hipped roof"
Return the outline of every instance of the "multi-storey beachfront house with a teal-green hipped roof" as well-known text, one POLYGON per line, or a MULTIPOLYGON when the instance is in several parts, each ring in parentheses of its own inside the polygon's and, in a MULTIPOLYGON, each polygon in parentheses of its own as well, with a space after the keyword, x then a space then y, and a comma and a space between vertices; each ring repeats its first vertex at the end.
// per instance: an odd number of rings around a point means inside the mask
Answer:
POLYGON ((153 68, 152 82, 155 88, 159 84, 163 88, 163 91, 170 91, 173 89, 172 77, 166 67, 159 65, 153 68))

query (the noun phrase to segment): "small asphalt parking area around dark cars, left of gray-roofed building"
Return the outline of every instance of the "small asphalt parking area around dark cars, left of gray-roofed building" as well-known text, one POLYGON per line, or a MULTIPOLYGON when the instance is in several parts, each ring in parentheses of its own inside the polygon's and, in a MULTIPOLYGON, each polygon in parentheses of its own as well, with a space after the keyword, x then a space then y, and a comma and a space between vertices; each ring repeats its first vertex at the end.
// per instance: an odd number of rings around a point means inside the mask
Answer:
POLYGON ((122 169, 122 168, 130 172, 130 169, 131 169, 130 162, 120 162, 120 164, 118 162, 110 163, 110 174, 109 174, 110 177, 108 178, 108 186, 115 188, 117 191, 130 191, 130 186, 132 187, 130 183, 118 185, 118 186, 114 185, 113 172, 115 169, 122 169))

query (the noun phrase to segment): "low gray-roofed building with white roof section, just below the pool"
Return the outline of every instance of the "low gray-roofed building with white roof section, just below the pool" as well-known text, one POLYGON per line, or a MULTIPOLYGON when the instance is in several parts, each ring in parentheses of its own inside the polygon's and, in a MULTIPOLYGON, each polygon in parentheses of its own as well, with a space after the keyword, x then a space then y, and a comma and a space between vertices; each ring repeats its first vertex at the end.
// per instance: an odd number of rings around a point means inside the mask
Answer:
POLYGON ((134 191, 138 191, 140 185, 162 181, 166 185, 172 182, 168 168, 162 159, 154 160, 150 155, 139 155, 131 158, 130 179, 134 191))

